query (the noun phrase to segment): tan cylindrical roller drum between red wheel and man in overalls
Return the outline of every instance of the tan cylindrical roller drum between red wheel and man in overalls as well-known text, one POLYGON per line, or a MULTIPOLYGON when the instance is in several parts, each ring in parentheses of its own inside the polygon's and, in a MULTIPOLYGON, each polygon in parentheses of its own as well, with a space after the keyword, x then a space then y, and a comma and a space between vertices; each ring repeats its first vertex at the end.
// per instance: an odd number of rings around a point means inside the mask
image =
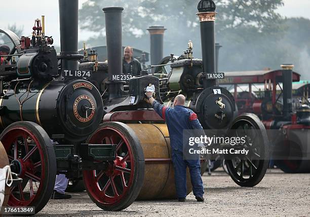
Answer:
MULTIPOLYGON (((141 144, 145 172, 138 199, 176 198, 170 138, 165 124, 128 124, 141 144)), ((191 192, 187 169, 187 194, 191 192)))

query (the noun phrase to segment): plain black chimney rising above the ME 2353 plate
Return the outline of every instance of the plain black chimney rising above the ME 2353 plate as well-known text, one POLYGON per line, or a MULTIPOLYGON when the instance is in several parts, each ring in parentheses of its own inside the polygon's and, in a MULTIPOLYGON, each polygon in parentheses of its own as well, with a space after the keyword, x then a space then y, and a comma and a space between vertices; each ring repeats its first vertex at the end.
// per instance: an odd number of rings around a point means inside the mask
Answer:
MULTIPOLYGON (((102 10, 105 15, 108 73, 110 77, 121 75, 123 74, 122 12, 124 8, 110 7, 102 10)), ((109 87, 109 99, 122 97, 123 83, 122 81, 106 83, 109 87)))

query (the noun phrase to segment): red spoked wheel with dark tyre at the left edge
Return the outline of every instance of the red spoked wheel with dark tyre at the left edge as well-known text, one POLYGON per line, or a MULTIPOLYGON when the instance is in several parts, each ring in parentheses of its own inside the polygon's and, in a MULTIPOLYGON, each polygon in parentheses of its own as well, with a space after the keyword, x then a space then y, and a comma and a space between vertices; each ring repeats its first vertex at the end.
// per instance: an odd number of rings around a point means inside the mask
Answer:
POLYGON ((34 206, 39 212, 49 201, 56 178, 56 156, 45 130, 33 122, 15 122, 0 135, 11 170, 23 179, 11 189, 9 206, 34 206))

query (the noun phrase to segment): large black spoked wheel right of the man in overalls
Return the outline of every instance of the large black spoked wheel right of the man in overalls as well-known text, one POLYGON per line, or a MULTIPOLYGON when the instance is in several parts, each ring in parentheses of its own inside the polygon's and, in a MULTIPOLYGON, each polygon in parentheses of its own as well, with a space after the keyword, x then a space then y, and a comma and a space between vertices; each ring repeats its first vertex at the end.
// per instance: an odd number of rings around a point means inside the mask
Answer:
POLYGON ((243 147, 248 154, 225 156, 225 164, 232 180, 242 187, 253 187, 264 177, 269 163, 268 137, 265 127, 254 114, 239 116, 231 126, 237 137, 245 137, 243 147))

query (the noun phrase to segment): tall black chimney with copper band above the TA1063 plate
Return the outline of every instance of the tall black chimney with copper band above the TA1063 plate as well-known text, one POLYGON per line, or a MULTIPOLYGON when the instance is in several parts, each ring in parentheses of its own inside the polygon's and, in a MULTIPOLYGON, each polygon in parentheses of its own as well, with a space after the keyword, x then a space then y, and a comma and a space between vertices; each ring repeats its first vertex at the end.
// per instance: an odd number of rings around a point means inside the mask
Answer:
MULTIPOLYGON (((200 20, 201 48, 203 58, 203 70, 205 74, 215 73, 215 4, 212 0, 201 0, 198 3, 200 20)), ((215 86, 216 80, 204 79, 204 88, 215 86)))

